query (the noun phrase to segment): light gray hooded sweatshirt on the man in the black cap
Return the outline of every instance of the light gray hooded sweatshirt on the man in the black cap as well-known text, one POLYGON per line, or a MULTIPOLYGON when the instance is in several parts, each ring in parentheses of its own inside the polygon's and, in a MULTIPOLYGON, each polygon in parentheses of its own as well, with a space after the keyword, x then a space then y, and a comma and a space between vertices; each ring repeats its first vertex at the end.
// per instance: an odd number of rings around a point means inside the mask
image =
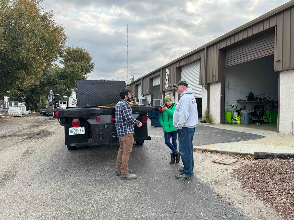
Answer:
POLYGON ((173 126, 176 128, 195 128, 198 124, 197 103, 193 93, 194 90, 188 88, 181 94, 173 114, 173 126))

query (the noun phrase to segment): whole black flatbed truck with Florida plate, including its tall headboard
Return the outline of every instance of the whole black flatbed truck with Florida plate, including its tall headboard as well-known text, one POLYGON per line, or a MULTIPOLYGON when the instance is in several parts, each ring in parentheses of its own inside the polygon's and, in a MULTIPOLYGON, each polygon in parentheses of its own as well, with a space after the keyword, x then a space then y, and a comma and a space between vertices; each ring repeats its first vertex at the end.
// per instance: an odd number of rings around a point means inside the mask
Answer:
MULTIPOLYGON (((124 81, 96 81, 77 80, 78 104, 83 103, 82 108, 76 109, 55 109, 53 118, 58 119, 61 126, 64 126, 64 141, 68 150, 86 148, 91 145, 103 145, 119 143, 115 127, 115 104, 119 101, 119 91, 124 87, 124 81), (88 82, 87 82, 88 81, 88 82), (109 84, 108 84, 109 83, 109 84), (106 86, 109 91, 108 99, 99 97, 95 93, 95 86, 106 86), (89 86, 87 88, 87 86, 89 86), (79 90, 79 88, 82 88, 79 90), (90 98, 89 98, 90 97, 90 98), (100 101, 99 101, 100 100, 100 101), (92 105, 87 105, 91 103, 92 105), (93 105, 99 103, 100 105, 93 105), (105 102, 112 103, 105 105, 105 102), (113 103, 115 103, 113 105, 113 103)), ((106 89, 102 89, 105 93, 106 89)), ((106 91, 107 92, 107 91, 106 91)), ((134 126, 134 141, 142 145, 144 141, 151 140, 148 136, 147 114, 162 112, 161 106, 131 106, 133 117, 142 123, 142 126, 134 126)))

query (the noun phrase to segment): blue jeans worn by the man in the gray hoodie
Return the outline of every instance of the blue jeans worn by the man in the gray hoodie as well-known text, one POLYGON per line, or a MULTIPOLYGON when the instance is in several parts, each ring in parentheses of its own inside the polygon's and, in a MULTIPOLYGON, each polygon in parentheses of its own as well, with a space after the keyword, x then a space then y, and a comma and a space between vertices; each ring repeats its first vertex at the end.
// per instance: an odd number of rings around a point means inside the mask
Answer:
POLYGON ((193 136, 195 128, 185 128, 178 130, 179 133, 179 152, 184 165, 183 173, 191 176, 194 168, 193 157, 193 136))

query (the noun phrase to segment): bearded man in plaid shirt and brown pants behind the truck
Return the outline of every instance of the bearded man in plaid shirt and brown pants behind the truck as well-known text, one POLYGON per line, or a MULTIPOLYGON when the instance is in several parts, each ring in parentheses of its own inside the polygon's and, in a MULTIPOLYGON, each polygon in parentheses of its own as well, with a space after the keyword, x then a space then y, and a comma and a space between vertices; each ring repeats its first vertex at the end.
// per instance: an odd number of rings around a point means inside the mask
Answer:
POLYGON ((120 92, 121 101, 115 106, 115 127, 119 138, 119 150, 116 159, 116 175, 121 180, 136 179, 137 175, 128 171, 128 160, 134 144, 134 125, 142 126, 142 123, 134 119, 131 106, 131 91, 122 89, 120 92))

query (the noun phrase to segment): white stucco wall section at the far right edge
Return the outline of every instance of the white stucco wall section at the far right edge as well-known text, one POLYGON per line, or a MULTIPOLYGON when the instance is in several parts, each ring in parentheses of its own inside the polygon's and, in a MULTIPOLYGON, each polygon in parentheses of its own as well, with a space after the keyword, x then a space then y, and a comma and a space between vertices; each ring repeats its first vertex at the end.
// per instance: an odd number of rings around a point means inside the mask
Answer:
POLYGON ((294 70, 280 73, 279 132, 293 135, 294 126, 294 70))

